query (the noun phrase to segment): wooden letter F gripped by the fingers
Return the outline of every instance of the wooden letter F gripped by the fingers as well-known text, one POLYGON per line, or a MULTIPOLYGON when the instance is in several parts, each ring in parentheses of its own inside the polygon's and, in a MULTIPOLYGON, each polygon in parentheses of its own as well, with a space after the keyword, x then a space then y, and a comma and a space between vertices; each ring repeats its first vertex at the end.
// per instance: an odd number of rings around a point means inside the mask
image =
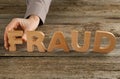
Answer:
POLYGON ((16 44, 23 43, 21 38, 17 38, 17 37, 22 37, 22 35, 23 35, 23 31, 8 32, 8 43, 10 45, 9 51, 16 51, 16 44))

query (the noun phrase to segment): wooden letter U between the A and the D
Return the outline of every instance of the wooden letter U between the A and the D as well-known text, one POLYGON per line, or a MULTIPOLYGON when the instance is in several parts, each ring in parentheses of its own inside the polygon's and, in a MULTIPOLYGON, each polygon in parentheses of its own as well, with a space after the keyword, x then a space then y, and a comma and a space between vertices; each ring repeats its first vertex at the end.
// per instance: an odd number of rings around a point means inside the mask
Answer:
POLYGON ((78 31, 72 31, 72 47, 77 52, 87 52, 90 46, 91 32, 86 31, 84 36, 84 45, 78 44, 78 31))

